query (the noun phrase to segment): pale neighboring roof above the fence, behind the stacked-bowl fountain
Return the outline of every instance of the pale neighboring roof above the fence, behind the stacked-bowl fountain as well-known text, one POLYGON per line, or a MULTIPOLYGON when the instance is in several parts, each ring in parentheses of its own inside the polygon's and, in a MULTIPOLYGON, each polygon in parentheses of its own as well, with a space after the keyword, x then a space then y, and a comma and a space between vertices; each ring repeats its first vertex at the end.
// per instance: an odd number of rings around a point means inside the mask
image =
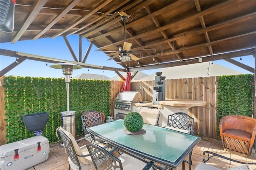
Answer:
MULTIPOLYGON (((219 75, 238 75, 243 74, 239 71, 224 67, 211 62, 196 63, 190 65, 181 65, 176 67, 168 67, 160 70, 165 79, 184 79, 194 77, 212 77, 219 75), (208 69, 209 68, 209 69, 208 69)), ((156 74, 149 75, 141 80, 154 80, 156 74)))

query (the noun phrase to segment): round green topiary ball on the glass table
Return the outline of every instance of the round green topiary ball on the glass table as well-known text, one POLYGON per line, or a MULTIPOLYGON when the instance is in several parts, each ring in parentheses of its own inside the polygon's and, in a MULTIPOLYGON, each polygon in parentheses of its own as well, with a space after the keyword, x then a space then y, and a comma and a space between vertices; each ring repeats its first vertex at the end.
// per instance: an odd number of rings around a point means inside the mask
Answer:
POLYGON ((138 112, 130 112, 124 117, 124 127, 129 132, 137 132, 143 127, 143 118, 138 112))

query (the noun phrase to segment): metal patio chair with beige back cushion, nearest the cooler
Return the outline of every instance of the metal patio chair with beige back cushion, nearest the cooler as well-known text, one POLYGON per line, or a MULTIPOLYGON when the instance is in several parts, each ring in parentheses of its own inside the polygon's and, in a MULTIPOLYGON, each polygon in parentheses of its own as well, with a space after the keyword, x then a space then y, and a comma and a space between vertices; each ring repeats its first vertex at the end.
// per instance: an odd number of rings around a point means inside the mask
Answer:
MULTIPOLYGON (((92 169, 92 159, 86 145, 79 147, 74 136, 62 127, 58 127, 56 129, 56 135, 58 137, 57 131, 59 132, 60 138, 65 146, 66 152, 68 153, 68 170, 70 170, 70 167, 72 170, 92 169)), ((108 148, 108 146, 105 146, 98 141, 94 142, 94 144, 100 145, 103 148, 108 148)))

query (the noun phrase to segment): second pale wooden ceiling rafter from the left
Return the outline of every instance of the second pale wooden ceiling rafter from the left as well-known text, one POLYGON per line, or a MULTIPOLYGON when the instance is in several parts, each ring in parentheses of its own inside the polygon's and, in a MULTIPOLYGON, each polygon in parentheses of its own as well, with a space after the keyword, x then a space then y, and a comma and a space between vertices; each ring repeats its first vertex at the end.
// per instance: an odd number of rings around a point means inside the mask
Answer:
POLYGON ((40 38, 40 36, 42 36, 46 31, 48 31, 52 26, 54 26, 54 24, 56 24, 62 17, 64 17, 72 8, 74 8, 74 6, 78 4, 78 2, 80 2, 80 0, 74 0, 73 2, 71 2, 67 8, 65 8, 58 16, 56 16, 56 18, 54 18, 54 20, 52 20, 52 22, 48 24, 48 26, 46 26, 46 28, 44 28, 32 40, 40 38))

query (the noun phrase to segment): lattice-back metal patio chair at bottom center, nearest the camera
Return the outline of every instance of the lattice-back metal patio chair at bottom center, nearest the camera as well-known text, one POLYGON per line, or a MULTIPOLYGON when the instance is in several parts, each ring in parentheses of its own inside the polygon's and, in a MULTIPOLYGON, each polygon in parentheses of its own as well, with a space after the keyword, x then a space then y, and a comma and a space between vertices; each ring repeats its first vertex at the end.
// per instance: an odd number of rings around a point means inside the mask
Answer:
POLYGON ((154 164, 154 162, 143 162, 125 153, 120 154, 116 158, 111 153, 115 149, 108 152, 94 143, 87 144, 86 146, 96 170, 149 170, 154 164))

